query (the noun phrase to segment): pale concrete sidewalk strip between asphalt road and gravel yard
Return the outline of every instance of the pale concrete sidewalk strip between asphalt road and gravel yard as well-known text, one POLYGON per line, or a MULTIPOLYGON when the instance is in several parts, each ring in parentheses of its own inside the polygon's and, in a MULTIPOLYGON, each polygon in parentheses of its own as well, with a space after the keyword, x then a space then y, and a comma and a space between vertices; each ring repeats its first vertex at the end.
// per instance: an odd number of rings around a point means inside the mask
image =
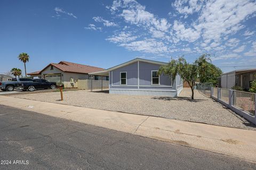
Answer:
POLYGON ((256 131, 6 96, 0 104, 256 162, 256 131))

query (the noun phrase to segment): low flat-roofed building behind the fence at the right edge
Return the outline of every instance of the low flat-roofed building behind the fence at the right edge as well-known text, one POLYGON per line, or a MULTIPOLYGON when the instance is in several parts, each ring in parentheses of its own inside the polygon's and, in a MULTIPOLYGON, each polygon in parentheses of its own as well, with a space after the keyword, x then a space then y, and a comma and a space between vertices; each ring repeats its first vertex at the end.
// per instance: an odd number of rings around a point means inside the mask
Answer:
POLYGON ((235 70, 221 74, 221 88, 231 89, 233 86, 240 86, 248 90, 254 80, 256 80, 256 68, 235 70))

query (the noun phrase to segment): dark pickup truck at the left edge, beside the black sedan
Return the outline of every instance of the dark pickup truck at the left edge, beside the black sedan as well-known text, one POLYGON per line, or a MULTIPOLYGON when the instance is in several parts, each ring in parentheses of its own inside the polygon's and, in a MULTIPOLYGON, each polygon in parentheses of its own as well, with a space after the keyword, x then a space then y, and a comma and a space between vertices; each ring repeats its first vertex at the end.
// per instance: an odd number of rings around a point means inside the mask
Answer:
POLYGON ((21 84, 26 82, 33 82, 29 78, 12 78, 11 81, 0 82, 0 89, 2 91, 13 91, 14 89, 22 88, 21 84))

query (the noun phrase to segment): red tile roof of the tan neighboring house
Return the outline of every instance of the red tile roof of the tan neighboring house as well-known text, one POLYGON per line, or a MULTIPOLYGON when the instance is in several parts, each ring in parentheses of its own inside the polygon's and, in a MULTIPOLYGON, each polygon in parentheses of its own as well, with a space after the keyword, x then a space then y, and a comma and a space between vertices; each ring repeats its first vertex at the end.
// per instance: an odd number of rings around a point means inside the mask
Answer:
MULTIPOLYGON (((63 72, 71 72, 71 73, 84 73, 88 74, 91 72, 97 72, 97 71, 103 71, 105 69, 99 68, 99 67, 94 67, 90 65, 83 65, 83 64, 76 64, 76 63, 71 63, 71 62, 65 62, 61 61, 58 64, 56 63, 51 63, 47 65, 43 70, 45 70, 47 67, 50 65, 56 67, 57 69, 63 71, 63 72)), ((38 71, 38 72, 33 72, 34 74, 40 74, 43 70, 38 71)), ((28 75, 33 75, 33 73, 29 73, 28 75)))

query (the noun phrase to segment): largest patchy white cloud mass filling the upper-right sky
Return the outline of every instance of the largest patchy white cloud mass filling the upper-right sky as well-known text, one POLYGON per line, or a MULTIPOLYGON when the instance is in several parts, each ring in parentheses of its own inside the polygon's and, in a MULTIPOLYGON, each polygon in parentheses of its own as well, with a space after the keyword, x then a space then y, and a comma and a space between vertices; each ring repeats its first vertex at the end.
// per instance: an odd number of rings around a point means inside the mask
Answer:
MULTIPOLYGON (((240 58, 236 53, 245 52, 245 45, 252 43, 241 42, 239 36, 249 37, 254 33, 242 30, 247 20, 256 16, 253 1, 177 0, 172 7, 174 11, 160 18, 135 0, 114 0, 107 9, 112 18, 118 23, 123 21, 125 27, 117 27, 106 40, 129 50, 157 56, 170 56, 174 52, 175 55, 207 52, 217 56, 214 60, 240 58)), ((94 20, 103 22, 98 17, 94 20)), ((252 56, 252 53, 255 53, 253 49, 248 55, 252 56)))

